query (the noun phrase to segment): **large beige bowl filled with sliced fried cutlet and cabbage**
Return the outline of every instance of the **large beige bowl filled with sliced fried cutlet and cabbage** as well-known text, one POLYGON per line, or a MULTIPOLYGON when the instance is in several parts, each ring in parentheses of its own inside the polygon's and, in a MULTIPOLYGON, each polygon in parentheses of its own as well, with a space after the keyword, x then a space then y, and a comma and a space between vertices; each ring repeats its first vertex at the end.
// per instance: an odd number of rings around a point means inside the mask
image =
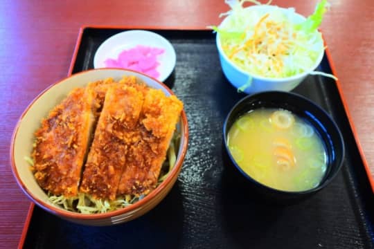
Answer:
POLYGON ((188 145, 183 102, 142 73, 100 68, 40 93, 12 136, 12 172, 40 208, 84 225, 152 210, 177 181, 188 145))

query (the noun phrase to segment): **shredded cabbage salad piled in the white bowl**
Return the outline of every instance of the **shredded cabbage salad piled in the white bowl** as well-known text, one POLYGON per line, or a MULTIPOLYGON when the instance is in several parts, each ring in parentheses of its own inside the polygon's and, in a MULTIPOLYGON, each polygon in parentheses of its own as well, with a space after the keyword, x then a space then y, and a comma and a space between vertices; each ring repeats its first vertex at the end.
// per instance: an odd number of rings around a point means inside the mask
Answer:
MULTIPOLYGON (((244 2, 225 0, 230 6, 222 24, 211 26, 220 35, 222 49, 243 71, 262 77, 291 77, 312 68, 324 50, 317 30, 329 4, 321 0, 307 19, 295 19, 294 8, 244 8, 244 2)), ((269 4, 269 3, 267 3, 269 4)), ((314 72, 333 77, 321 72, 314 72)), ((336 78, 335 78, 336 79, 336 78)))

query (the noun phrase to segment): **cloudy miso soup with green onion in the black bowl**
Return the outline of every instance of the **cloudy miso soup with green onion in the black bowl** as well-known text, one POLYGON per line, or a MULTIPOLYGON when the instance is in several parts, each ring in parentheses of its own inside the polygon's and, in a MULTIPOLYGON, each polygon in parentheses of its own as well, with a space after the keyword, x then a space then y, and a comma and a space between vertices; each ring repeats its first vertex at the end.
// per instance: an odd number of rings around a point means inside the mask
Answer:
POLYGON ((239 167, 269 187, 310 190, 326 172, 326 149, 319 134, 290 111, 260 108, 245 113, 227 136, 239 167))

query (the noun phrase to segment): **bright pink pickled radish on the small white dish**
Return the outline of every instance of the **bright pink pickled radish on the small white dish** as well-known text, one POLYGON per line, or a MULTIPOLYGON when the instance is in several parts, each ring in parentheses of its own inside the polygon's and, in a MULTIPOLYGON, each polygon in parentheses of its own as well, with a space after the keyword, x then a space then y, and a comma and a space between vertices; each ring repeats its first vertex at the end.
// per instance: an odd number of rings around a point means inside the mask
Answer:
POLYGON ((106 59, 104 64, 105 67, 126 68, 157 78, 160 75, 157 71, 160 64, 157 61, 157 56, 164 52, 163 48, 137 45, 134 48, 123 50, 116 59, 106 59))

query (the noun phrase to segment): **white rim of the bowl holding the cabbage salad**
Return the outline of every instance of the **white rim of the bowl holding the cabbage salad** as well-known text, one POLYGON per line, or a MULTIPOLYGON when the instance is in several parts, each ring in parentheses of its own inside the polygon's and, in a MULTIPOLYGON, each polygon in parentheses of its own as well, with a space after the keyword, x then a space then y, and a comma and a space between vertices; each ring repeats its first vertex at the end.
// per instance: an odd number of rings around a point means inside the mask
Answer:
MULTIPOLYGON (((267 5, 248 6, 248 7, 244 8, 244 9, 250 10, 250 9, 256 9, 256 8, 265 8, 265 9, 266 8, 268 8, 268 9, 276 9, 276 8, 278 8, 278 9, 280 9, 282 11, 290 10, 290 8, 282 8, 282 7, 279 7, 279 6, 271 6, 271 5, 269 5, 269 6, 267 6, 267 5)), ((304 17, 303 15, 300 15, 297 12, 293 12, 293 14, 296 17, 301 17, 304 20, 306 19, 306 17, 304 17)), ((224 23, 224 21, 228 20, 229 17, 230 17, 230 15, 228 15, 227 17, 225 17, 222 20, 220 26, 224 23)), ((249 77, 256 78, 258 80, 271 81, 271 82, 288 82, 290 80, 296 80, 296 79, 308 76, 312 71, 314 71, 319 66, 319 64, 321 64, 323 56, 325 55, 325 46, 326 45, 325 45, 325 41, 323 40, 322 33, 319 30, 317 30, 317 32, 321 34, 323 49, 321 50, 321 53, 319 53, 316 62, 313 64, 312 67, 310 67, 308 69, 308 71, 304 71, 302 73, 298 73, 296 75, 292 75, 292 76, 289 76, 289 77, 264 77, 262 75, 257 75, 257 74, 254 74, 254 73, 250 73, 250 72, 244 71, 242 68, 240 68, 239 66, 237 66, 236 64, 234 64, 231 61, 231 59, 229 59, 229 57, 227 57, 226 53, 224 53, 224 50, 222 49, 222 46, 221 46, 220 34, 219 33, 217 33, 216 36, 215 36, 215 43, 216 43, 216 46, 217 46, 219 54, 224 58, 224 60, 228 64, 230 64, 231 66, 233 66, 233 68, 235 68, 235 70, 239 71, 240 73, 242 73, 244 75, 247 75, 249 77)))

